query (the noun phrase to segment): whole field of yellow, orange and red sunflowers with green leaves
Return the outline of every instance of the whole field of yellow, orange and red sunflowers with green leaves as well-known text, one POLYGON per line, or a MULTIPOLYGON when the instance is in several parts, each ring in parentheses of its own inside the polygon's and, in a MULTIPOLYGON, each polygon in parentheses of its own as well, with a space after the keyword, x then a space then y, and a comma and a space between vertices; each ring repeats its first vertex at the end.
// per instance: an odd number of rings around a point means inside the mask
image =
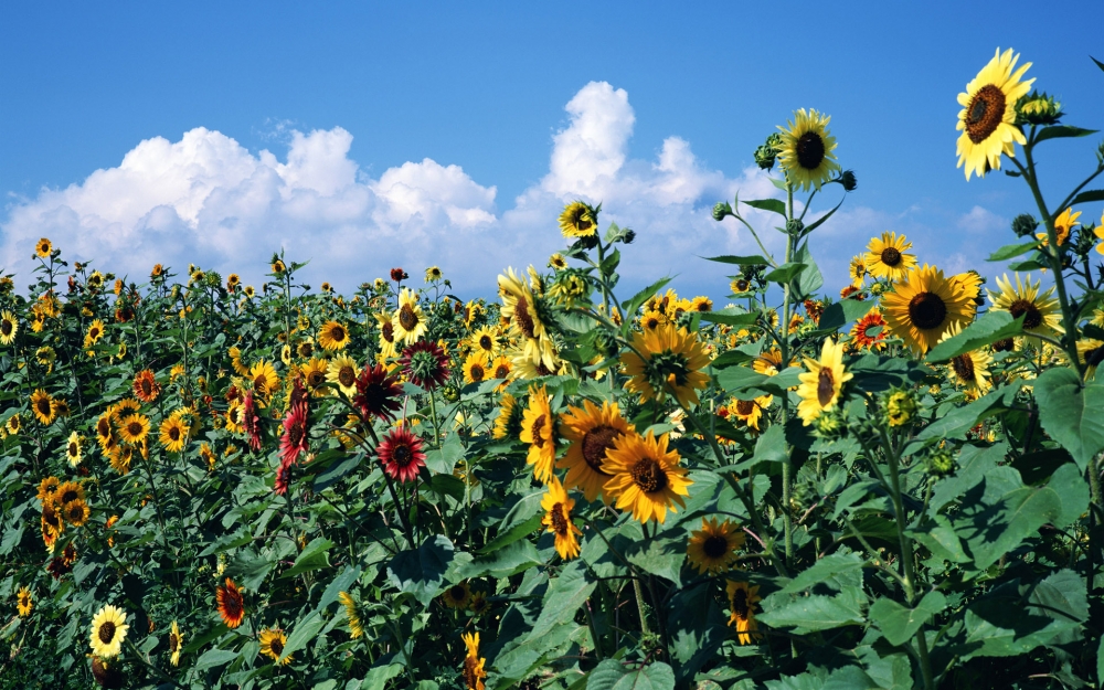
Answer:
POLYGON ((1044 201, 1045 142, 1095 132, 1018 59, 958 96, 967 181, 1036 204, 992 285, 885 232, 826 286, 857 179, 805 109, 755 151, 778 198, 713 209, 762 248, 708 259, 723 307, 619 293, 635 233, 582 201, 492 298, 28 247, 0 687, 1100 688, 1104 146, 1044 201))

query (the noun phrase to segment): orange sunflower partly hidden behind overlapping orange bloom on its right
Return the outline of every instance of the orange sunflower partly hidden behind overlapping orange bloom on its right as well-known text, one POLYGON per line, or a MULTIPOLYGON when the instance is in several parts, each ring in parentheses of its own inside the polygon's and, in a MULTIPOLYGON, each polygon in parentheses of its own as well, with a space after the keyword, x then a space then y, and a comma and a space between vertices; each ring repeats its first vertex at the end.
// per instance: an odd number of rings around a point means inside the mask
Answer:
POLYGON ((603 487, 609 475, 602 470, 606 452, 613 448, 615 439, 635 433, 636 428, 620 416, 617 403, 603 401, 599 410, 591 401, 583 400, 582 408, 571 406, 561 415, 560 429, 564 440, 571 444, 558 465, 567 468, 564 482, 569 488, 582 489, 588 501, 601 495, 603 502, 608 503, 609 496, 603 487))

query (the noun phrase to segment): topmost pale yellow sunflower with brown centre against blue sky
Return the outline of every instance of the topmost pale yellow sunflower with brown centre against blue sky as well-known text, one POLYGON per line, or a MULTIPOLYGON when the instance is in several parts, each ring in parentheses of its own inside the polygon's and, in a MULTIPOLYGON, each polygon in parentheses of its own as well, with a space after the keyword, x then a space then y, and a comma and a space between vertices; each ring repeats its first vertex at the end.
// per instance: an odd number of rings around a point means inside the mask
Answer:
POLYGON ((966 179, 970 173, 984 176, 989 169, 1000 170, 1000 155, 1009 158, 1016 155, 1013 141, 1027 144, 1023 132, 1016 126, 1016 102, 1031 89, 1033 78, 1021 82, 1020 77, 1031 63, 1013 73, 1020 56, 1012 56, 1012 49, 1004 54, 997 49, 977 76, 966 85, 965 93, 958 94, 957 153, 958 167, 966 164, 966 179))

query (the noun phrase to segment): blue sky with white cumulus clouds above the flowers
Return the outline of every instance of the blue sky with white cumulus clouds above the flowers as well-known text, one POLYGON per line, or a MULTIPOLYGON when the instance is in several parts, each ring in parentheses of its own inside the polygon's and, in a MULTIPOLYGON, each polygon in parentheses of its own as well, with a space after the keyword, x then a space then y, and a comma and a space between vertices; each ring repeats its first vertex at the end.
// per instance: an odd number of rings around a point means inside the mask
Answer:
MULTIPOLYGON (((195 262, 259 279, 284 244, 316 282, 439 264, 490 297, 506 265, 561 245, 564 200, 602 195, 640 231, 628 287, 677 273, 720 297, 724 267, 694 255, 753 245, 708 209, 767 193, 752 151, 816 107, 860 180, 813 241, 830 287, 883 230, 992 275, 984 256, 1030 199, 955 168, 956 95, 1011 46, 1068 123, 1101 128, 1102 20, 1098 0, 4 3, 0 266, 25 270, 46 235, 135 275, 195 262)), ((1052 197, 1097 140, 1048 147, 1052 197)))

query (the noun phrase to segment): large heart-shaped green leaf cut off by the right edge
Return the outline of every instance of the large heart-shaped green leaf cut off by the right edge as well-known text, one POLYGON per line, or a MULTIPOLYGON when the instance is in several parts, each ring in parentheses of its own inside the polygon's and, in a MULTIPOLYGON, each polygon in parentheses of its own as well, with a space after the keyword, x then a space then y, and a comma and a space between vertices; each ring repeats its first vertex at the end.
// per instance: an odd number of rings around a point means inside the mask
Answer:
POLYGON ((1104 383, 1081 385, 1071 369, 1049 369, 1034 382, 1039 423, 1070 452, 1081 471, 1104 450, 1104 383))

